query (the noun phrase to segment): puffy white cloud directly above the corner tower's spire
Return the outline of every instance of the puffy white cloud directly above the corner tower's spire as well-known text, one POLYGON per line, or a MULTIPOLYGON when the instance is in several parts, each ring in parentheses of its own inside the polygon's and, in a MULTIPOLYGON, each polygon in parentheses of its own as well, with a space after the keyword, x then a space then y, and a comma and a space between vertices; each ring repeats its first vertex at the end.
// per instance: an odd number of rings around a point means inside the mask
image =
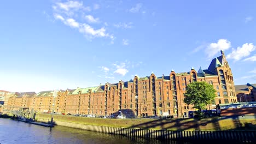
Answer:
POLYGON ((208 58, 212 58, 220 50, 228 50, 231 47, 230 41, 226 39, 219 39, 218 43, 208 44, 205 52, 207 53, 208 58))

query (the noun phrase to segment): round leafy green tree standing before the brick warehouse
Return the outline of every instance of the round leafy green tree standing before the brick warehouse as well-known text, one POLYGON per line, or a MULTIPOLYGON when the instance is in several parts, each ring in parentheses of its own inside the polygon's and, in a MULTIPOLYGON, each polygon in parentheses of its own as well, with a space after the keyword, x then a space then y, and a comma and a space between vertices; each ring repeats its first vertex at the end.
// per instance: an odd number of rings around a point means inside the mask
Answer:
POLYGON ((184 103, 193 105, 193 108, 198 109, 199 116, 201 110, 205 109, 207 104, 211 104, 216 97, 216 90, 212 85, 202 82, 192 82, 188 85, 184 93, 184 103))

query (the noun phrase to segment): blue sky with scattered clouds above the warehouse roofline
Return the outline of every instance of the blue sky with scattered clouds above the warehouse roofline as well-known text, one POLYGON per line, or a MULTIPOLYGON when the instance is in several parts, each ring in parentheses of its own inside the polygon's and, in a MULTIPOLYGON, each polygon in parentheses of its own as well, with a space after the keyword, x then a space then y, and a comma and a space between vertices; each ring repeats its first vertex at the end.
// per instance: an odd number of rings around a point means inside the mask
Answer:
POLYGON ((207 69, 256 83, 256 1, 3 1, 0 89, 47 91, 207 69))

